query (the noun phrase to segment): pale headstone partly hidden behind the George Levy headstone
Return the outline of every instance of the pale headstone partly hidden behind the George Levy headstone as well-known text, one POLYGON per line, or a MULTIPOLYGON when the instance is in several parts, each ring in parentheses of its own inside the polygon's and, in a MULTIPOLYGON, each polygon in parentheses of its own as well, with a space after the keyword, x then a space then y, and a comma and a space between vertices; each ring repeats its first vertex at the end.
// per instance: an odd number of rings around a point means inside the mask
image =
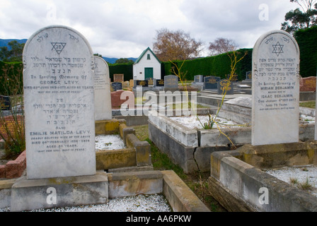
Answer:
POLYGON ((101 57, 95 59, 95 120, 113 119, 109 66, 101 57))

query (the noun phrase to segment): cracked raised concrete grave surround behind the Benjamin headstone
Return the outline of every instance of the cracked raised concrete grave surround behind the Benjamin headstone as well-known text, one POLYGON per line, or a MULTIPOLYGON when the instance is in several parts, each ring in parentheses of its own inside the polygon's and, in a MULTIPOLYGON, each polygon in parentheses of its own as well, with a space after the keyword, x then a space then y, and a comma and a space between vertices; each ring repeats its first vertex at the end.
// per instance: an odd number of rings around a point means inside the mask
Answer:
MULTIPOLYGON (((214 109, 197 109, 197 114, 213 114, 214 109)), ((313 110, 300 108, 302 114, 313 114, 313 110)), ((241 124, 250 121, 250 109, 234 105, 224 105, 219 117, 224 117, 241 124)), ((313 139, 315 124, 300 124, 299 139, 307 141, 313 139)), ((221 129, 231 141, 240 147, 251 143, 251 127, 221 129)), ((160 114, 149 112, 149 139, 182 167, 185 173, 195 172, 198 169, 208 172, 210 169, 209 157, 215 151, 231 150, 231 143, 218 129, 188 129, 178 122, 160 114)))

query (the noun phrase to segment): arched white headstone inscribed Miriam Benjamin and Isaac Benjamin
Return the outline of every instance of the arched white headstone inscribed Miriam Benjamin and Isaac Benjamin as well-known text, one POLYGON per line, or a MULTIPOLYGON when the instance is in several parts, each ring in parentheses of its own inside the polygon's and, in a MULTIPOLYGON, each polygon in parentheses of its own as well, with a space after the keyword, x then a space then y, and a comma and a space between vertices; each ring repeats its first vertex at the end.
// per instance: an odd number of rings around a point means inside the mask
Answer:
POLYGON ((252 145, 299 141, 299 46, 273 30, 252 55, 252 145))

